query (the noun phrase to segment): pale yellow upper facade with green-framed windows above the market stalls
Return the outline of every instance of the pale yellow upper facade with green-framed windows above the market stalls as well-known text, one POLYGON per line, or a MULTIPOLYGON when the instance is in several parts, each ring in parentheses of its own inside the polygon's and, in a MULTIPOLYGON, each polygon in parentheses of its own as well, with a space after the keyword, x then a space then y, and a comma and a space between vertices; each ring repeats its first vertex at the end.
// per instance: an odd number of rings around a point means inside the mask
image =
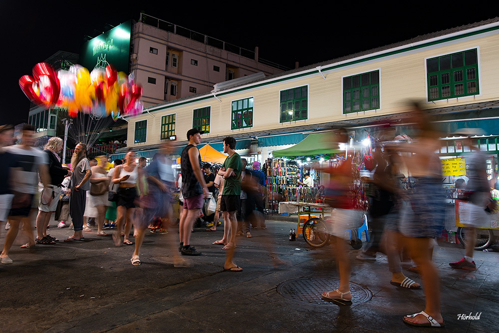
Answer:
POLYGON ((426 101, 435 110, 498 101, 498 51, 499 20, 494 19, 246 83, 228 81, 211 93, 127 118, 128 148, 154 149, 171 134, 180 145, 194 125, 209 125, 203 140, 216 142, 228 135, 305 132, 355 119, 367 124, 407 111, 409 99, 426 101))

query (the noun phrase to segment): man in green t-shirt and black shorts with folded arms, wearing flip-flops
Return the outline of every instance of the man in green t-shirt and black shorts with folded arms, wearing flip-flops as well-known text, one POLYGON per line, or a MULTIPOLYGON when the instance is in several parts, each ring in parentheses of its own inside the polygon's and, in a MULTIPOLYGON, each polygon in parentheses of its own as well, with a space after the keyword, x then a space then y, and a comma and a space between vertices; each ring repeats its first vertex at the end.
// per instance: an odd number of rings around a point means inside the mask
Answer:
POLYGON ((223 212, 224 227, 230 228, 232 231, 229 243, 222 248, 222 250, 228 250, 224 269, 231 272, 241 272, 243 269, 234 264, 232 258, 236 248, 236 231, 238 228, 236 213, 241 206, 241 171, 243 164, 241 163, 241 156, 234 150, 236 148, 236 139, 228 136, 223 141, 224 153, 229 154, 229 156, 218 173, 224 177, 220 210, 223 212))

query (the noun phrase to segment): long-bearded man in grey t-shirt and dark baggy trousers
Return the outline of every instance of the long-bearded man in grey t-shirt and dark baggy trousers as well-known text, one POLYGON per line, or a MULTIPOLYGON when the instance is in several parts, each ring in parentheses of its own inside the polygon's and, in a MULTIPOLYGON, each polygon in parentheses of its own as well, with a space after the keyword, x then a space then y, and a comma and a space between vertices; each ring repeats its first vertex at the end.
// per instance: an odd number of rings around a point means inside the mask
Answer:
POLYGON ((85 212, 86 192, 90 190, 90 176, 92 171, 90 163, 86 157, 87 146, 80 142, 74 148, 73 156, 71 157, 71 167, 73 175, 71 177, 71 195, 69 196, 69 215, 73 220, 72 236, 64 240, 64 242, 80 241, 83 238, 83 212, 85 212))

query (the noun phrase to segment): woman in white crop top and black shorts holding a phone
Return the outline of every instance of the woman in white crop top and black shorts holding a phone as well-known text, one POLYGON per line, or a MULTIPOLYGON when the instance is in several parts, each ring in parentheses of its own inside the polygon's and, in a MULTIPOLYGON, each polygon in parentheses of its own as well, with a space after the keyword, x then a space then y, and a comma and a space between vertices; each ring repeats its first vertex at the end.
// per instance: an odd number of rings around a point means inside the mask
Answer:
POLYGON ((118 201, 116 202, 116 205, 118 206, 118 218, 116 223, 118 235, 113 235, 116 246, 121 245, 119 239, 123 227, 123 221, 125 221, 123 244, 133 245, 133 242, 128 240, 128 235, 132 229, 132 219, 135 213, 135 198, 137 197, 137 190, 135 186, 139 179, 139 173, 137 172, 135 153, 133 151, 126 153, 124 160, 125 162, 122 165, 118 165, 114 169, 112 179, 114 184, 119 184, 117 191, 118 201))

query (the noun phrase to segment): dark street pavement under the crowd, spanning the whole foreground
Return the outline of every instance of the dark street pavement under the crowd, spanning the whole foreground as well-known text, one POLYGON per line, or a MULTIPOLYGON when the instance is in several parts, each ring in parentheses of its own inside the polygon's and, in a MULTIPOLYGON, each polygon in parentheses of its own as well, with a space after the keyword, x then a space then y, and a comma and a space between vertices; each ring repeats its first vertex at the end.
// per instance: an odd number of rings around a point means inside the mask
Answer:
MULTIPOLYGON (((19 248, 26 242, 20 233, 9 254, 14 263, 0 265, 0 332, 428 330, 402 322, 404 315, 424 309, 424 294, 390 285, 384 255, 360 261, 355 257, 361 250, 349 247, 354 302, 323 302, 320 292, 336 289, 339 279, 331 248, 311 250, 301 235, 290 242, 289 228, 296 227, 291 222, 267 221, 267 227, 238 239, 235 262, 241 273, 224 272, 225 252, 211 244, 222 238, 220 227, 193 233, 191 244, 203 255, 189 257, 191 268, 172 265, 165 240, 177 240, 178 231, 147 233, 137 267, 130 263, 133 246, 115 247, 110 236, 85 233, 85 242, 63 243, 72 231, 51 223, 49 234, 61 242, 27 250, 19 248)), ((446 322, 438 331, 499 332, 499 253, 476 251, 476 272, 449 267, 463 256, 460 245, 435 248, 446 322), (470 313, 480 319, 458 319, 470 313)), ((421 282, 408 267, 405 275, 421 282)))

